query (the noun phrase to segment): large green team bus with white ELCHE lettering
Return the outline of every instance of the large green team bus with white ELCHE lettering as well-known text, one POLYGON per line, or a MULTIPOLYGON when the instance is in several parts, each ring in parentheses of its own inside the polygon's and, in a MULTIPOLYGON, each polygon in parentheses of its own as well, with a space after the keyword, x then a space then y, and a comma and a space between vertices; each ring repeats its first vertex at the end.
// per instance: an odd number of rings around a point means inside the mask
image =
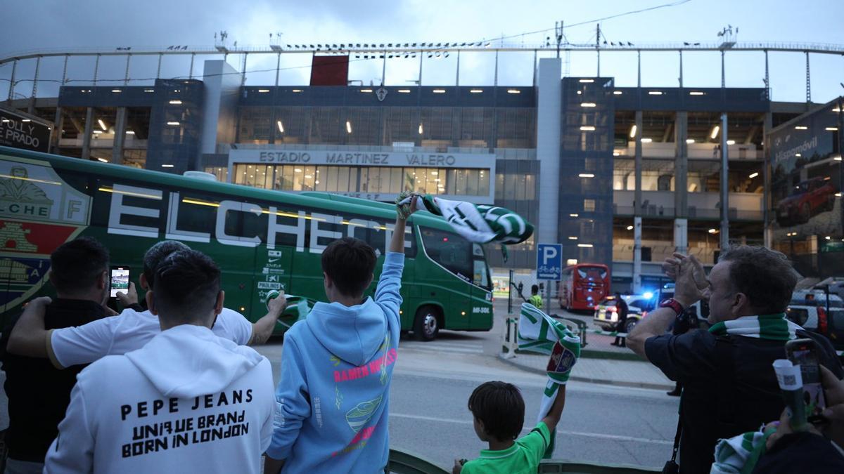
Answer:
MULTIPOLYGON (((131 268, 136 284, 143 252, 159 240, 203 251, 223 271, 226 307, 257 320, 273 289, 324 300, 320 254, 346 235, 376 249, 377 282, 395 217, 384 202, 0 147, 0 309, 5 319, 32 297, 49 294, 51 252, 88 235, 111 250, 112 265, 131 268)), ((484 248, 430 213, 416 213, 408 224, 402 329, 421 340, 441 328, 489 331, 492 284, 484 248)), ((374 292, 375 283, 366 294, 374 292)), ((284 329, 278 324, 276 332, 284 329)))

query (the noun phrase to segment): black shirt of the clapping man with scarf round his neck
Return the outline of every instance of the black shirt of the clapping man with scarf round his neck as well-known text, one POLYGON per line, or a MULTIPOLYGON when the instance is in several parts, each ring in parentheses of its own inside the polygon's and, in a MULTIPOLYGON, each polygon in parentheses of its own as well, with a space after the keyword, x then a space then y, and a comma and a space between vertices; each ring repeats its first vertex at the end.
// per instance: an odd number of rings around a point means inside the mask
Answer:
MULTIPOLYGON (((821 364, 841 379, 844 370, 825 337, 812 337, 821 348, 821 364)), ((683 389, 680 417, 680 472, 709 472, 718 439, 759 429, 775 421, 785 404, 773 362, 785 358, 785 343, 754 337, 716 337, 709 331, 655 336, 645 342, 648 360, 683 389)))

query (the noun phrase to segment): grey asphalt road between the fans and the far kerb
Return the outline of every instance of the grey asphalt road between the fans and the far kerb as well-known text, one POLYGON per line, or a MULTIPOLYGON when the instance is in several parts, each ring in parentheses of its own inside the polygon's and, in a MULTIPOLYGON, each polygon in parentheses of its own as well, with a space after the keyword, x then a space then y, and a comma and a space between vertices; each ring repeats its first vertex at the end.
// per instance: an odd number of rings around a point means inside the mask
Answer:
MULTIPOLYGON (((403 337, 390 394, 390 444, 451 469, 477 457, 468 396, 480 383, 505 380, 525 399, 525 433, 533 428, 545 378, 497 358, 506 300, 496 301, 493 331, 441 331, 434 342, 403 337), (504 308, 500 309, 500 305, 504 308)), ((281 344, 257 347, 278 377, 281 344)), ((645 363, 642 363, 645 364, 645 363)), ((671 456, 678 401, 664 391, 570 382, 555 458, 661 467, 671 456)))

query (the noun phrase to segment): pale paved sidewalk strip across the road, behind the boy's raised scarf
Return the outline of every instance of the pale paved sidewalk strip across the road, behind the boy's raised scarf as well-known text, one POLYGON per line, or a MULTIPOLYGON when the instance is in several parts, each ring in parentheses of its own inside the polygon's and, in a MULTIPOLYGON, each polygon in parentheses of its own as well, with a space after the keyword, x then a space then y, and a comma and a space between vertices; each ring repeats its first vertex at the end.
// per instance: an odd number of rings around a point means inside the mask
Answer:
MULTIPOLYGON (((622 349, 630 352, 629 349, 622 349)), ((500 359, 519 369, 545 374, 548 356, 533 353, 517 353, 515 357, 500 359)), ((620 385, 669 391, 674 389, 674 382, 668 380, 659 369, 644 360, 615 360, 609 358, 581 357, 571 379, 593 384, 620 385)))

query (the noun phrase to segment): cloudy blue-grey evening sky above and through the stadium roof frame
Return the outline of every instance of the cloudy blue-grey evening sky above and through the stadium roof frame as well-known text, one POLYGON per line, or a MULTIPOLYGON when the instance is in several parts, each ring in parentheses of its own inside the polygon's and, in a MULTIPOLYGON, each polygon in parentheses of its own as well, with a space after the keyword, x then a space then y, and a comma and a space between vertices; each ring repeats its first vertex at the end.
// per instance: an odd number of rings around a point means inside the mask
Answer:
MULTIPOLYGON (((268 45, 270 33, 282 32, 282 43, 350 42, 463 42, 492 40, 500 36, 510 45, 537 44, 553 36, 555 20, 565 24, 590 22, 630 10, 674 6, 601 21, 603 37, 609 41, 634 44, 718 40, 717 32, 728 24, 738 27, 739 41, 769 43, 831 43, 844 46, 844 2, 807 0, 803 3, 783 0, 640 0, 636 2, 603 1, 441 1, 441 0, 358 0, 310 2, 220 0, 145 0, 109 3, 67 2, 59 0, 3 0, 3 35, 0 57, 21 51, 69 50, 117 46, 214 46, 214 33, 226 30, 229 44, 268 45), (538 30, 534 34, 526 34, 538 30), (526 34, 526 35, 523 35, 526 34)), ((565 30, 572 43, 593 43, 595 23, 565 30)), ((603 41, 603 38, 602 38, 603 41)), ((540 56, 542 57, 542 56, 540 56)), ((204 57, 219 59, 221 57, 204 57)), ((636 85, 636 55, 603 53, 601 73, 616 78, 621 86, 636 85)), ((273 55, 253 55, 246 65, 247 84, 272 84, 275 73, 273 55), (272 69, 271 72, 263 71, 272 69), (263 72, 261 72, 263 71, 263 72)), ((130 75, 133 84, 149 83, 154 78, 157 59, 134 57, 130 75)), ((241 57, 230 55, 228 61, 240 68, 241 57)), ((310 57, 284 55, 279 83, 306 84, 310 57)), ((763 87, 765 75, 762 53, 736 52, 727 55, 727 85, 763 87)), ((771 53, 771 88, 774 100, 805 100, 805 58, 802 54, 771 53)), ((495 55, 463 53, 460 83, 486 85, 493 82, 495 55)), ((71 84, 82 84, 93 77, 93 58, 74 58, 68 67, 71 84)), ((100 62, 100 79, 119 79, 122 83, 125 58, 106 58, 100 62)), ((425 59, 424 85, 452 85, 456 80, 455 55, 443 59, 425 59)), ((596 73, 594 52, 571 54, 571 75, 596 73)), ((717 52, 684 54, 684 85, 715 86, 721 81, 721 62, 717 52)), ((844 57, 813 55, 812 99, 832 100, 844 94, 844 57)), ((15 94, 31 94, 35 61, 20 62, 15 94)), ((161 77, 187 76, 189 57, 166 57, 161 77)), ((195 74, 202 71, 197 61, 195 74)), ((61 78, 62 59, 41 63, 39 95, 55 95, 61 78)), ((11 66, 0 66, 0 99, 8 95, 11 66)), ((418 78, 419 60, 393 59, 387 62, 387 84, 408 84, 418 78)), ((647 86, 676 86, 679 60, 676 53, 643 53, 642 83, 647 86)), ((381 62, 352 61, 349 79, 364 83, 378 82, 381 62)), ((498 80, 500 85, 528 85, 533 80, 533 53, 502 53, 498 80)), ((107 83, 107 82, 106 82, 107 83)))

